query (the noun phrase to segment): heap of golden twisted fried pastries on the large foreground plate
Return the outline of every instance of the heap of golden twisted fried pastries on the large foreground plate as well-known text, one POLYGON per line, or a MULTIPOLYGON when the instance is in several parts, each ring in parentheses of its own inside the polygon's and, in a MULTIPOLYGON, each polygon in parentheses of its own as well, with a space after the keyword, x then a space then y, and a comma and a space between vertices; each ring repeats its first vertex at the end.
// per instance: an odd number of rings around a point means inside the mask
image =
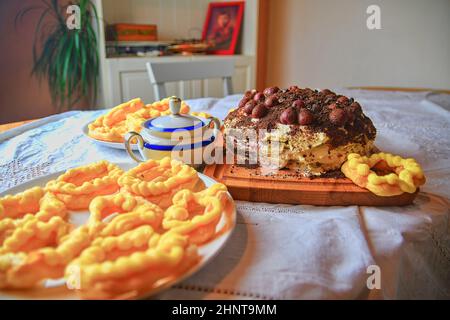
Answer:
POLYGON ((107 161, 70 169, 0 198, 0 288, 65 278, 81 298, 139 297, 198 263, 197 244, 219 236, 230 204, 224 185, 205 189, 170 158, 126 173, 107 161), (85 224, 69 222, 68 210, 86 208, 85 224))

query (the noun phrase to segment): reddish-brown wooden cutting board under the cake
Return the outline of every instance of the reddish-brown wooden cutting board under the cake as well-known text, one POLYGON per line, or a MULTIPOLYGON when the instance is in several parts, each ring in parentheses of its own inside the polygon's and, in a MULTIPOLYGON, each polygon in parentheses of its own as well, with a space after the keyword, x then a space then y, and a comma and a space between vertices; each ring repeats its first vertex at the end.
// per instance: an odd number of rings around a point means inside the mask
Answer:
POLYGON ((235 200, 319 206, 405 206, 417 195, 404 193, 379 197, 347 178, 304 178, 289 170, 270 176, 260 169, 235 165, 210 165, 204 174, 225 184, 235 200))

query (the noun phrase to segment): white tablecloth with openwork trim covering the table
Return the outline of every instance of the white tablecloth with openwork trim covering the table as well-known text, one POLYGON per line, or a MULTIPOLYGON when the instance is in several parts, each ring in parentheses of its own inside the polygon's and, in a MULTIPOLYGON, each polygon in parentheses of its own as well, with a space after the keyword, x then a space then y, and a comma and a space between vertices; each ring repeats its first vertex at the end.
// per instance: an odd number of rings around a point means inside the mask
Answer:
MULTIPOLYGON (((450 96, 338 90, 378 129, 377 146, 416 158, 427 183, 407 207, 313 207, 237 202, 225 249, 159 298, 450 298, 450 96), (435 102, 431 102, 435 101, 435 102), (381 271, 369 290, 367 268, 381 271)), ((190 101, 223 118, 239 96, 190 101)), ((73 111, 0 134, 0 192, 32 177, 100 159, 129 161, 81 127, 103 111, 73 111)))

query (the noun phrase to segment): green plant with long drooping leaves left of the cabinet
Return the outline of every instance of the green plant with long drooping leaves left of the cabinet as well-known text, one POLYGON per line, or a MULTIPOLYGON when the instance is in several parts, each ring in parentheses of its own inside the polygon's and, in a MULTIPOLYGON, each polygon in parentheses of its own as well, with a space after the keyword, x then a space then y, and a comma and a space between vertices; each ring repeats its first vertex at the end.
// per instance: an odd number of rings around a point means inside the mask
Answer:
MULTIPOLYGON (((73 7, 72 7, 73 8, 73 7)), ((33 43, 32 75, 47 80, 52 102, 58 111, 72 109, 80 102, 94 103, 99 78, 99 54, 94 24, 98 14, 90 0, 61 4, 41 0, 22 9, 16 23, 31 11, 39 11, 33 43), (77 6, 76 28, 69 27, 69 6, 77 6)))

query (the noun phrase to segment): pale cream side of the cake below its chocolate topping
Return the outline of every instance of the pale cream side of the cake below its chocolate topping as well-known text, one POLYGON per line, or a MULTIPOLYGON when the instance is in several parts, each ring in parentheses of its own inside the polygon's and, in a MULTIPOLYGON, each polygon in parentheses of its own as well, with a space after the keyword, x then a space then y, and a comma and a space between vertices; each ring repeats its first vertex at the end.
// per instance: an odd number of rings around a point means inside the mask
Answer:
POLYGON ((291 135, 290 126, 278 124, 276 129, 260 136, 250 133, 248 129, 229 130, 225 127, 225 135, 229 146, 233 147, 237 164, 256 165, 268 170, 289 168, 305 176, 319 176, 339 170, 348 154, 369 155, 374 142, 362 135, 357 139, 359 142, 334 147, 326 133, 310 132, 307 127, 291 135))

